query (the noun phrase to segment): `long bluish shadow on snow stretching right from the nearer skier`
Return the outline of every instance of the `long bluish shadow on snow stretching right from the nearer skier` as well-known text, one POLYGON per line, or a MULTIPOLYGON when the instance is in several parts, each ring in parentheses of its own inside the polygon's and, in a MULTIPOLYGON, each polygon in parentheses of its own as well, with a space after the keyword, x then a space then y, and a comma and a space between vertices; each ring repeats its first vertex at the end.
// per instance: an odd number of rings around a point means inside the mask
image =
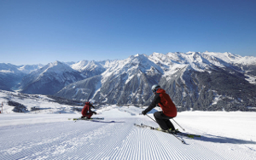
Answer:
POLYGON ((199 138, 195 138, 195 140, 208 141, 213 143, 230 143, 230 144, 253 144, 256 142, 252 140, 239 140, 235 138, 222 137, 222 136, 214 136, 211 134, 207 134, 208 136, 201 136, 199 138))

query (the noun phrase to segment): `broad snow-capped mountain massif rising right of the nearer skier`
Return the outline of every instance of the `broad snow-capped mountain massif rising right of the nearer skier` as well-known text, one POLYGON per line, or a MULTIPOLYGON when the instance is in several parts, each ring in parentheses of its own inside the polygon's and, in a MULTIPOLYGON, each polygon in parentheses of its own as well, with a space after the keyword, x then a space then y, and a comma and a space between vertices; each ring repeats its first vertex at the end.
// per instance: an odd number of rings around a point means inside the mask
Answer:
MULTIPOLYGON (((160 85, 180 106, 179 111, 250 111, 255 107, 255 77, 249 80, 248 76, 253 75, 242 67, 244 64, 237 63, 237 60, 230 62, 227 60, 230 54, 225 54, 226 58, 222 59, 212 53, 170 53, 164 56, 164 59, 171 57, 175 63, 161 77, 160 85)), ((154 56, 163 58, 161 54, 154 56)), ((148 105, 150 100, 145 104, 148 105)))

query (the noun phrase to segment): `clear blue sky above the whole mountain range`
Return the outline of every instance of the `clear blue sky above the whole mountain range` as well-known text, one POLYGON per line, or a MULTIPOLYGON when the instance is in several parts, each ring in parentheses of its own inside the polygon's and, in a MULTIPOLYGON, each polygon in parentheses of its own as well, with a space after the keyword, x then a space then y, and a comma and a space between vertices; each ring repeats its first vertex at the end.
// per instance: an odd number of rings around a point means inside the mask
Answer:
POLYGON ((0 63, 256 56, 255 0, 0 0, 0 63))

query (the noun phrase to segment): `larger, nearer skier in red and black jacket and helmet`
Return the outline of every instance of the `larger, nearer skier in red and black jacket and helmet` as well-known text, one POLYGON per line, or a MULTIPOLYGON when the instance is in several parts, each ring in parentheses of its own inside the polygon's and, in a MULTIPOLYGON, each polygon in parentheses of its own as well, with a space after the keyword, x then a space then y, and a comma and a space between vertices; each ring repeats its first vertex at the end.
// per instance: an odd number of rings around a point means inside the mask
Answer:
POLYGON ((146 115, 148 111, 151 111, 155 106, 160 106, 162 111, 154 112, 154 118, 163 130, 175 133, 175 128, 170 121, 173 117, 177 116, 177 108, 172 102, 170 96, 166 94, 166 90, 161 89, 160 85, 154 84, 152 86, 154 92, 154 100, 148 106, 148 108, 142 111, 143 115, 146 115))

